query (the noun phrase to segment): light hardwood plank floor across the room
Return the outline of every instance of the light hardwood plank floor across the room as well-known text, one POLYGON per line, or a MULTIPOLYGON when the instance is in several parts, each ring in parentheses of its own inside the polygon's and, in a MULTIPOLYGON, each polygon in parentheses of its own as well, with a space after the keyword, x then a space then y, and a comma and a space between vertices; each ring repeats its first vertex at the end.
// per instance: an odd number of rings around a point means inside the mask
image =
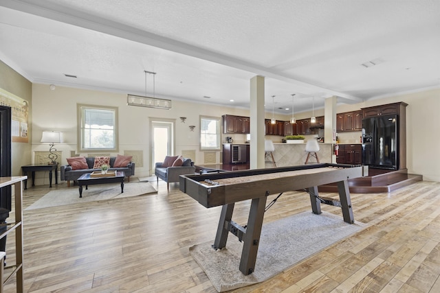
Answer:
MULTIPOLYGON (((24 211, 25 292, 217 292, 188 247, 213 241, 220 208, 202 207, 174 183, 167 192, 159 180, 158 189, 157 195, 24 211)), ((49 190, 26 190, 23 208, 49 190)), ((440 183, 351 199, 355 220, 368 228, 235 292, 440 292, 440 183)), ((236 222, 245 224, 249 203, 236 204, 236 222)), ((337 207, 322 209, 341 215, 337 207)), ((308 194, 286 193, 265 222, 309 210, 308 194)), ((14 290, 12 279, 5 292, 14 290)))

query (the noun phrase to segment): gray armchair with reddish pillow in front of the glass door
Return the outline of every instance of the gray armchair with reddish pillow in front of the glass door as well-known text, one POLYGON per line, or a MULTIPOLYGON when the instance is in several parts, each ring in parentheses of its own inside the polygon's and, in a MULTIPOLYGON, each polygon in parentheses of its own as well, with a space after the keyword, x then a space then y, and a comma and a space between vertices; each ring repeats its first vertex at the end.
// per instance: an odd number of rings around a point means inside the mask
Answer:
POLYGON ((194 162, 183 156, 166 156, 164 162, 155 163, 154 174, 157 182, 159 182, 159 178, 164 180, 168 190, 170 190, 170 183, 179 182, 180 175, 194 173, 194 162))

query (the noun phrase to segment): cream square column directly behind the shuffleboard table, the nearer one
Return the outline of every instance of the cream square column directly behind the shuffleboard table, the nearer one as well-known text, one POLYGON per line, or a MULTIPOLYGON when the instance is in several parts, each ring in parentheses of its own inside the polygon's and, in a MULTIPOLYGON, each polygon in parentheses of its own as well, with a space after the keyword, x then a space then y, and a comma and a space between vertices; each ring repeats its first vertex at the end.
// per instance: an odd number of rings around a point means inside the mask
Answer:
POLYGON ((250 80, 250 169, 263 169, 264 159, 264 77, 250 80))

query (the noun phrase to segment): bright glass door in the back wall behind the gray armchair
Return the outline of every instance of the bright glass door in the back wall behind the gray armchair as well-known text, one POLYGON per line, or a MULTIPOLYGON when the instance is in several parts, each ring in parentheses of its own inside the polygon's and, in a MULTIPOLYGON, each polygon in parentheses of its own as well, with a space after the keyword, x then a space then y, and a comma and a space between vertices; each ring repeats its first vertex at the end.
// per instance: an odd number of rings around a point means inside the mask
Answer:
POLYGON ((151 174, 155 163, 163 162, 165 156, 174 154, 174 121, 157 119, 151 121, 151 174))

